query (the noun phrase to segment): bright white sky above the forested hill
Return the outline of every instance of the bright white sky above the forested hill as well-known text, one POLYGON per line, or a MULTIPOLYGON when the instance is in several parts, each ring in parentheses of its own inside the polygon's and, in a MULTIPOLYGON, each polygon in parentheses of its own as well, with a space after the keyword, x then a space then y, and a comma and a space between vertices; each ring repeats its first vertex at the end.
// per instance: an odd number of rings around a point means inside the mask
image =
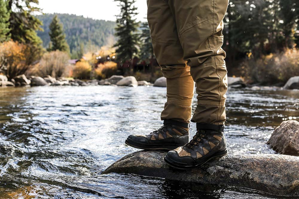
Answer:
MULTIPOLYGON (((118 4, 114 0, 39 0, 44 13, 68 13, 111 21, 115 21, 115 15, 119 14, 118 4)), ((135 7, 139 13, 137 20, 146 21, 147 1, 136 0, 135 7)))

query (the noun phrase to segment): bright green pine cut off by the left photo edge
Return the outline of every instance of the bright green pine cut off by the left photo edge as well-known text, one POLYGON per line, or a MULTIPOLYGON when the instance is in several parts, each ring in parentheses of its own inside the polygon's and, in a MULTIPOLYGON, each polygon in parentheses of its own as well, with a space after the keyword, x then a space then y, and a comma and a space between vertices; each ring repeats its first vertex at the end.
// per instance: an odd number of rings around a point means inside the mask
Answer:
POLYGON ((0 42, 10 39, 9 16, 6 1, 0 0, 0 42))

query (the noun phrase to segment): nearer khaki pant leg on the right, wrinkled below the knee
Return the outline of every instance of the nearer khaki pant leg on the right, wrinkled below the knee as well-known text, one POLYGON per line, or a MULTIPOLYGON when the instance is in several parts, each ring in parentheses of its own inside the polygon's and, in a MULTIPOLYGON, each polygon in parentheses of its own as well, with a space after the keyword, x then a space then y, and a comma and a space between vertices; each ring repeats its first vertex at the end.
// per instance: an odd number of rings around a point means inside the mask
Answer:
POLYGON ((227 71, 223 18, 228 0, 168 1, 176 16, 184 60, 196 82, 198 105, 192 122, 222 125, 226 120, 227 71))

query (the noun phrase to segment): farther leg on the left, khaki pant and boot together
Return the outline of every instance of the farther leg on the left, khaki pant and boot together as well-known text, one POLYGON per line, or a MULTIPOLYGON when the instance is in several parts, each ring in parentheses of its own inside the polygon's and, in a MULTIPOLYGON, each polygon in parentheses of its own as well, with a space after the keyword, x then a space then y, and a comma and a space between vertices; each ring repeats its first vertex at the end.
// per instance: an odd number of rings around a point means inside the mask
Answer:
POLYGON ((167 78, 167 102, 161 113, 164 126, 149 135, 130 135, 126 144, 139 149, 172 150, 189 141, 194 94, 190 67, 183 60, 176 21, 164 0, 147 0, 148 22, 155 56, 167 78))

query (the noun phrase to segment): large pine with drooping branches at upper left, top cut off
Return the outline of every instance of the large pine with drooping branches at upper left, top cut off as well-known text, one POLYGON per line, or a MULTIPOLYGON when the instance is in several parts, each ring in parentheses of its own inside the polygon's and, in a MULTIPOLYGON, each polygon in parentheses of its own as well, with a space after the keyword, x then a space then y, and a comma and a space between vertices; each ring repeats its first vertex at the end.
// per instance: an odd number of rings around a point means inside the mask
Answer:
POLYGON ((11 38, 13 41, 27 44, 28 51, 32 52, 27 64, 41 58, 44 51, 42 40, 36 33, 36 30, 42 30, 42 22, 35 17, 36 13, 42 13, 42 10, 36 7, 38 4, 39 0, 7 0, 11 38))

